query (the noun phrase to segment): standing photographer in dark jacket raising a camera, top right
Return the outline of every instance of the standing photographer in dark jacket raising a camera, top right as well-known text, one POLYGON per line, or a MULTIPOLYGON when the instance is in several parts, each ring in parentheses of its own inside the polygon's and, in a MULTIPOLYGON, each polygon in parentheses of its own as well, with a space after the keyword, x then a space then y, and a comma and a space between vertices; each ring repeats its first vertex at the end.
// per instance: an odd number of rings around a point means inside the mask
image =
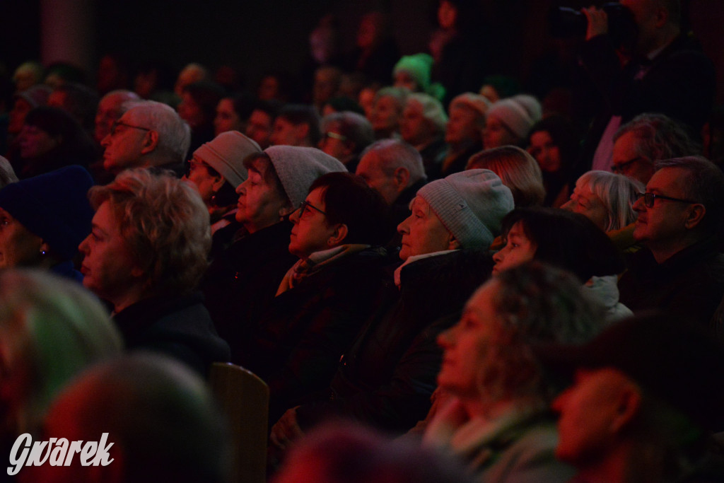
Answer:
POLYGON ((602 94, 584 145, 592 169, 610 170, 613 135, 637 114, 666 114, 699 133, 712 107, 715 71, 681 29, 681 1, 621 0, 581 12, 588 24, 581 62, 602 94), (626 17, 633 17, 634 35, 622 31, 626 17))

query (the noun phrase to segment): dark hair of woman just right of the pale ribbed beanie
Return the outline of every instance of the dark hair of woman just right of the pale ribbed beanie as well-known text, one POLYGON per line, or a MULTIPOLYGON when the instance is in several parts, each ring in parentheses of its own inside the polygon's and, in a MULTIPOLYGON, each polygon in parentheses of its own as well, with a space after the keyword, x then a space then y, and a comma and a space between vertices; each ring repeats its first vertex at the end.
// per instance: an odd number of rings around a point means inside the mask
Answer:
POLYGON ((555 208, 514 209, 502 219, 503 236, 518 222, 536 245, 534 260, 568 270, 581 282, 626 268, 608 235, 582 214, 555 208))

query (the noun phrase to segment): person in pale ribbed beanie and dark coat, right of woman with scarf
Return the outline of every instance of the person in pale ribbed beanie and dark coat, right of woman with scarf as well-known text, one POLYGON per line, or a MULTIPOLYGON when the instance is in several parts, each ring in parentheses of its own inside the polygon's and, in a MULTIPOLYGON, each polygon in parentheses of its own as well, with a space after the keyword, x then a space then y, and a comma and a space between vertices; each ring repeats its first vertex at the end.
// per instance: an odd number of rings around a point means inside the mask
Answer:
POLYGON ((418 191, 403 235, 395 285, 340 359, 329 390, 288 410, 271 431, 286 448, 317 422, 346 416, 405 432, 430 407, 441 351, 437 334, 458 319, 467 298, 492 271, 487 248, 513 196, 487 169, 435 180, 418 191), (460 250, 466 248, 468 250, 460 250))

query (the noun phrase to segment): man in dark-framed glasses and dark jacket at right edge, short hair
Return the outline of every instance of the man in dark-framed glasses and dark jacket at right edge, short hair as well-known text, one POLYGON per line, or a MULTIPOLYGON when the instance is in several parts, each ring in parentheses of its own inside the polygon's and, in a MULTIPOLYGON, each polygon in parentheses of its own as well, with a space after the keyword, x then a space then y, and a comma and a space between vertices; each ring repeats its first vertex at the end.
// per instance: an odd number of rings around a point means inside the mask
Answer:
POLYGON ((628 259, 618 282, 620 301, 633 311, 660 308, 704 324, 724 294, 724 255, 718 232, 724 173, 701 156, 657 161, 639 193, 633 238, 644 248, 628 259))

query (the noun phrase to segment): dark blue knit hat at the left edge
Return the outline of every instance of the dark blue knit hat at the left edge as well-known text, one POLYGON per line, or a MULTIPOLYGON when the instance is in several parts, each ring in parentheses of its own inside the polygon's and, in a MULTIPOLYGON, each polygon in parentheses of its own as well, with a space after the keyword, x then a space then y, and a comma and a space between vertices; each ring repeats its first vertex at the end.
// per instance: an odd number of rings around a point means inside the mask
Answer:
POLYGON ((70 260, 90 233, 91 186, 88 171, 67 166, 7 185, 0 190, 0 208, 43 238, 54 253, 70 260))

